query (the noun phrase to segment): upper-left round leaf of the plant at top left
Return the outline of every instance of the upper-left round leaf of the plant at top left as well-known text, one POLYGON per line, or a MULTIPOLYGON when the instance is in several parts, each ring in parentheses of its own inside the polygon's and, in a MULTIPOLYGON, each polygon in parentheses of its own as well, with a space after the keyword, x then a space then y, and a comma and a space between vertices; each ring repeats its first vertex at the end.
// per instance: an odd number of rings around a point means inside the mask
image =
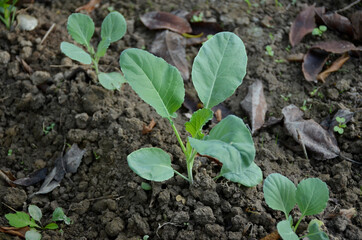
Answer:
POLYGON ((68 17, 68 33, 74 41, 89 47, 90 39, 94 33, 94 22, 85 14, 73 13, 68 17))

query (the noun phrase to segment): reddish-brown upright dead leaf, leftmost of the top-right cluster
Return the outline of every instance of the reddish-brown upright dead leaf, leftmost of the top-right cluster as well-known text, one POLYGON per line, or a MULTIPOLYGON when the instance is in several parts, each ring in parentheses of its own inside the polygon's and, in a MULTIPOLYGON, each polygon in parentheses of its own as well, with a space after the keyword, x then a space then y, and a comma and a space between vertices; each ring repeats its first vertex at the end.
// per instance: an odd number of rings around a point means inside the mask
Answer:
POLYGON ((308 6, 298 14, 289 32, 289 42, 292 47, 300 43, 303 37, 308 33, 311 33, 316 27, 314 16, 314 5, 308 6))

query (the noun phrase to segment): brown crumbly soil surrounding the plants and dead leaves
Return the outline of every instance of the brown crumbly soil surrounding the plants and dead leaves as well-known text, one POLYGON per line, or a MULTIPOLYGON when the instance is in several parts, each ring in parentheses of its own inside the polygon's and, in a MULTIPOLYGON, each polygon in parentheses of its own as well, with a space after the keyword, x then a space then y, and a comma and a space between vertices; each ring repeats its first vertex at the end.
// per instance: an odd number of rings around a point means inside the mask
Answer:
MULTIPOLYGON (((77 143, 86 149, 82 163, 75 174, 67 174, 60 187, 45 195, 29 196, 38 191, 40 183, 26 188, 11 188, 0 180, 0 226, 7 226, 4 215, 11 212, 6 206, 26 211, 36 204, 50 219, 56 207, 62 207, 72 219, 70 226, 61 225, 62 231, 43 232, 42 239, 261 239, 276 230, 283 219, 278 211, 267 207, 262 184, 246 188, 225 179, 212 180, 220 167, 208 159, 197 158, 195 184, 190 186, 179 176, 162 182, 150 182, 152 190, 145 191, 127 165, 127 155, 141 147, 160 147, 172 156, 174 167, 185 173, 185 159, 173 137, 167 120, 144 103, 128 86, 111 92, 97 84, 95 73, 87 66, 72 62, 60 52, 61 41, 71 41, 66 21, 74 9, 87 1, 40 1, 30 6, 27 13, 35 16, 38 27, 25 32, 9 32, 0 25, 0 169, 11 171, 16 178, 33 171, 54 166, 64 145, 77 143), (75 5, 76 4, 76 5, 75 5), (55 29, 43 44, 40 40, 52 23, 55 29), (33 69, 26 72, 16 56, 33 69), (64 65, 71 65, 65 67, 64 65), (142 135, 143 125, 152 119, 156 127, 142 135), (43 128, 55 123, 44 134, 43 128), (65 144, 66 143, 66 144, 65 144), (12 153, 9 152, 12 150, 12 153), (6 204, 6 205, 5 205, 6 204)), ((254 2, 254 1, 251 1, 254 2)), ((93 39, 98 41, 100 24, 107 15, 107 7, 120 11, 128 22, 125 37, 111 45, 107 56, 100 62, 103 71, 117 69, 119 54, 128 47, 149 49, 156 31, 148 30, 139 20, 143 13, 153 10, 201 10, 206 19, 218 21, 226 31, 239 35, 248 53, 248 72, 243 84, 225 103, 237 116, 247 120, 240 101, 247 87, 260 79, 268 103, 269 117, 280 117, 281 109, 289 104, 308 106, 305 118, 321 122, 338 109, 355 112, 343 135, 336 135, 342 155, 361 161, 361 59, 351 58, 342 70, 328 77, 326 83, 305 81, 300 63, 277 63, 290 53, 305 53, 315 42, 343 38, 327 31, 321 38, 307 36, 301 44, 288 47, 291 22, 303 4, 314 1, 255 1, 258 7, 248 9, 244 1, 205 0, 123 0, 102 1, 91 13, 97 28, 93 39), (272 18, 272 28, 261 22, 272 18), (274 57, 265 54, 271 45, 274 57), (323 97, 311 97, 320 87, 323 97), (290 97, 283 100, 281 95, 290 97)), ((336 10, 345 7, 343 1, 317 1, 317 6, 336 10)), ((346 11, 350 14, 357 5, 346 11)), ((199 46, 187 48, 188 60, 197 54, 199 46)), ((194 93, 191 82, 186 91, 194 93)), ((188 110, 181 108, 176 121, 182 129, 188 110)), ((212 125, 211 125, 212 126, 212 125)), ((208 129, 207 129, 208 130, 208 129)), ((185 139, 187 134, 181 131, 185 139)), ((296 184, 307 177, 318 177, 330 190, 330 200, 324 213, 316 217, 325 223, 330 239, 362 239, 362 167, 340 157, 316 160, 312 154, 306 159, 301 147, 288 136, 282 123, 260 130, 254 136, 257 149, 256 164, 264 177, 278 172, 296 184), (355 208, 351 219, 336 216, 340 209, 355 208)), ((298 215, 298 210, 294 210, 298 215)), ((311 218, 307 218, 309 220, 311 218)), ((301 224, 304 231, 307 221, 301 224)), ((0 233, 0 239, 18 239, 0 233)))

